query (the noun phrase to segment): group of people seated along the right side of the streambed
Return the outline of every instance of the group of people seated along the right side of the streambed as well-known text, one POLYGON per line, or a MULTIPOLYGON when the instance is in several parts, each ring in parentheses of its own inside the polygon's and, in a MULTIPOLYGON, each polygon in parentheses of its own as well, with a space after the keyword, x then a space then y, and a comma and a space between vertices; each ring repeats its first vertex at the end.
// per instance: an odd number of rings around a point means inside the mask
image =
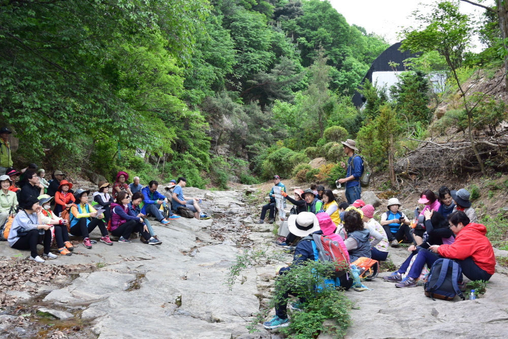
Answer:
MULTIPOLYGON (((423 191, 418 203, 424 208, 421 212, 419 208, 415 209, 415 219, 407 218, 400 210, 399 200, 391 198, 387 210, 377 222, 374 207, 366 205, 361 199, 351 205, 347 202, 337 204, 333 193, 324 187, 317 187, 318 192, 310 188, 295 189, 293 198, 285 193, 278 176, 274 176, 274 184, 281 187, 281 195, 294 205, 287 223, 279 227, 281 238, 277 240, 280 246, 294 245, 294 259, 291 265, 280 268, 277 275, 283 275, 305 260, 317 260, 316 246, 309 236, 312 234, 337 241, 351 263, 359 258, 385 261, 390 246, 395 248, 400 243, 410 244, 410 256, 396 272, 384 277, 387 281, 396 282, 395 286, 399 288, 417 286, 424 266, 432 267, 440 257, 459 263, 463 274, 470 280, 488 281, 494 273, 495 257, 486 237, 486 227, 476 223, 477 216, 465 189, 456 191, 443 186, 437 196, 431 190, 423 191), (287 227, 284 227, 285 224, 287 227)), ((270 193, 273 194, 273 190, 270 193)), ((268 210, 271 206, 263 208, 268 210)), ((344 276, 331 283, 344 289, 352 285, 344 276)), ((463 277, 458 284, 465 285, 463 277)), ((289 325, 286 300, 289 294, 292 294, 291 290, 283 294, 275 307, 275 315, 264 323, 265 328, 289 325)))

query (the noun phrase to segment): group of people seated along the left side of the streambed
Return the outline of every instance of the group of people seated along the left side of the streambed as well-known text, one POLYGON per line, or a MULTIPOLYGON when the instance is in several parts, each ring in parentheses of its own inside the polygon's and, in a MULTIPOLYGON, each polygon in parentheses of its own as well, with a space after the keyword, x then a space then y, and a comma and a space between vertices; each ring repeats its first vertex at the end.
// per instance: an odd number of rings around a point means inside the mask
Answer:
POLYGON ((106 245, 113 245, 110 234, 118 237, 120 244, 131 243, 131 234, 139 234, 142 242, 160 245, 162 241, 155 235, 147 215, 167 225, 170 220, 180 218, 173 211, 183 207, 198 220, 210 219, 199 206, 200 198, 183 195, 187 181, 183 177, 171 180, 166 187, 171 195, 167 196, 157 192, 155 180, 146 187, 138 177, 126 184, 129 175, 120 171, 113 185, 99 182, 98 191, 89 199, 90 190, 73 191, 73 184, 65 180, 61 171, 55 171, 49 182, 44 175, 44 169, 38 171, 37 165, 30 164, 20 172, 8 168, 0 176, 0 228, 8 229, 2 238, 12 248, 30 250, 28 259, 36 262, 57 257, 50 252, 53 241, 58 254, 72 255, 74 247, 69 235, 81 236, 83 246, 91 249, 97 241, 91 240, 89 234, 96 227, 101 232, 99 241, 106 245), (37 254, 39 243, 44 245, 42 257, 37 254))

